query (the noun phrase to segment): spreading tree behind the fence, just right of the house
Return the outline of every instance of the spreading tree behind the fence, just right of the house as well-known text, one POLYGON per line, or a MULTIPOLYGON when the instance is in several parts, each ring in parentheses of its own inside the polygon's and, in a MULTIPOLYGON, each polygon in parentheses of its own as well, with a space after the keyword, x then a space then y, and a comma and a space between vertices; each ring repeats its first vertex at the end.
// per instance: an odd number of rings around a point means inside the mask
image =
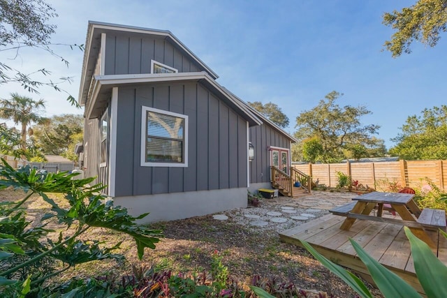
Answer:
POLYGON ((380 127, 360 123, 360 117, 372 113, 366 107, 337 105, 335 102, 342 95, 332 91, 316 107, 296 118, 295 137, 299 140, 316 137, 323 147, 321 161, 325 163, 346 158, 344 149, 349 144, 369 144, 380 127))

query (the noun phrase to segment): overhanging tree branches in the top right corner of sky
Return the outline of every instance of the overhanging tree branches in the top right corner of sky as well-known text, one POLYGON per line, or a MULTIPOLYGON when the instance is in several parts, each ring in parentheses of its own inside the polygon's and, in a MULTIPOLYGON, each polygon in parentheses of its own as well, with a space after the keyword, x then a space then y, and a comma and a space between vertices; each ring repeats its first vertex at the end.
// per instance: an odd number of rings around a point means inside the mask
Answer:
POLYGON ((384 46, 393 57, 402 52, 411 53, 414 40, 434 47, 439 41, 439 33, 445 32, 447 22, 447 0, 418 0, 411 7, 383 15, 383 24, 397 30, 384 46))

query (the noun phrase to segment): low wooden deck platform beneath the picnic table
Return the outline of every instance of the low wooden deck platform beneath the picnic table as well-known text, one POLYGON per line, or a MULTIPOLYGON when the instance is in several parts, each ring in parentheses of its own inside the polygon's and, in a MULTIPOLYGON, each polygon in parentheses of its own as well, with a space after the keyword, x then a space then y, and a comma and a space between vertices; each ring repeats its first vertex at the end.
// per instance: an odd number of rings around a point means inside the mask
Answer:
MULTIPOLYGON (((340 230, 345 218, 328 214, 280 232, 279 238, 298 246, 302 246, 300 240, 305 240, 332 262, 355 271, 373 283, 365 265, 356 256, 356 251, 349 242, 348 238, 351 237, 369 255, 423 294, 414 271, 410 243, 402 225, 358 220, 349 231, 340 230)), ((438 239, 437 232, 430 232, 430 237, 438 244, 432 251, 447 265, 447 240, 443 236, 438 239)))

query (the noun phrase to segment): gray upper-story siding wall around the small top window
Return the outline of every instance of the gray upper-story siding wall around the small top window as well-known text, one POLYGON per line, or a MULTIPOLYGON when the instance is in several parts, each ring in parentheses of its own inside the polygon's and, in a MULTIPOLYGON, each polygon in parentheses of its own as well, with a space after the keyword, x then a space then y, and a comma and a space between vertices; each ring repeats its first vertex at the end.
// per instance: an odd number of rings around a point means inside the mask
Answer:
POLYGON ((105 40, 105 75, 151 73, 151 59, 179 73, 204 70, 164 38, 108 32, 105 40))

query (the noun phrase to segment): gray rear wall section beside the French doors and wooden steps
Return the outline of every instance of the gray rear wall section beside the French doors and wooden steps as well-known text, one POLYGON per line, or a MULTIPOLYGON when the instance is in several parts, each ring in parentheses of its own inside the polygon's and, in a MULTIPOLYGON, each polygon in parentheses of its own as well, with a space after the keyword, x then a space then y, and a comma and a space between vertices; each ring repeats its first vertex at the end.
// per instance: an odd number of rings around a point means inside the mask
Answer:
MULTIPOLYGON (((270 185, 270 151, 268 147, 291 149, 291 140, 268 124, 253 126, 249 129, 249 140, 254 146, 254 160, 250 161, 251 184, 270 185)), ((290 158, 290 156, 289 156, 290 158)))

